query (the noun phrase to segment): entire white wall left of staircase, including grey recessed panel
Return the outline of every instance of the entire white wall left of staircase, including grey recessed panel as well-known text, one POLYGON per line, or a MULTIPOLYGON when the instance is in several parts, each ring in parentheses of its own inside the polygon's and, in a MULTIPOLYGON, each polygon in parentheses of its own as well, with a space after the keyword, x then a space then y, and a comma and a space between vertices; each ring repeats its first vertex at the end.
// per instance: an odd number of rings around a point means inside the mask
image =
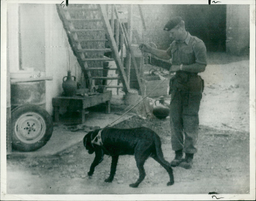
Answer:
POLYGON ((45 85, 46 110, 52 115, 52 98, 63 92, 62 78, 67 71, 77 81, 84 80, 56 4, 8 4, 7 21, 10 71, 20 75, 31 68, 32 74, 53 78, 45 85))

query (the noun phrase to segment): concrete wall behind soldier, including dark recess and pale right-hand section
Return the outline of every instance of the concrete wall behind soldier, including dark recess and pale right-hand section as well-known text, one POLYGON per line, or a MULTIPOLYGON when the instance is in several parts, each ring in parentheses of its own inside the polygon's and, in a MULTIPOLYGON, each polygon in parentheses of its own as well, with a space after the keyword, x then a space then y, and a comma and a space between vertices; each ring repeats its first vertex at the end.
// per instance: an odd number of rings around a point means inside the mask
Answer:
MULTIPOLYGON (((124 11, 127 5, 120 6, 124 11)), ((166 49, 172 42, 163 30, 171 16, 179 15, 192 35, 202 39, 207 51, 227 51, 244 54, 249 51, 249 5, 141 5, 146 24, 144 42, 153 42, 166 49)), ((137 5, 133 6, 133 29, 140 33, 137 5)), ((124 16, 124 18, 127 16, 124 16)))

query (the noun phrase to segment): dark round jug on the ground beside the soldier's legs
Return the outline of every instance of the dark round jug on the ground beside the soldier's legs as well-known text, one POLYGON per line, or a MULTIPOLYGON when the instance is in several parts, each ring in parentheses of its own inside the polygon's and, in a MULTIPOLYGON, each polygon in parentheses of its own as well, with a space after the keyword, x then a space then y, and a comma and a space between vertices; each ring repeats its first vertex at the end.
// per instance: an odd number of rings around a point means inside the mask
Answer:
POLYGON ((158 119, 164 119, 169 115, 169 107, 164 102, 164 97, 159 97, 159 99, 155 100, 155 106, 153 108, 153 115, 155 115, 158 119), (157 101, 158 104, 157 104, 157 101))

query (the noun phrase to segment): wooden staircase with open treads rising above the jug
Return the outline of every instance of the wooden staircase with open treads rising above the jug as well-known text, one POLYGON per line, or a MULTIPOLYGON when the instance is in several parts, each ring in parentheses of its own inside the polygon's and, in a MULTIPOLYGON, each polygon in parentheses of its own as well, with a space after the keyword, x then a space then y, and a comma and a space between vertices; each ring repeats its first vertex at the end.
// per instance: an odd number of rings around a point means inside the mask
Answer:
MULTIPOLYGON (((114 61, 114 58, 104 56, 104 53, 112 52, 111 48, 105 47, 105 43, 109 40, 106 39, 106 35, 113 36, 113 33, 106 33, 105 20, 100 6, 97 4, 69 4, 68 7, 62 8, 57 5, 57 11, 68 34, 70 46, 87 80, 86 86, 89 88, 92 85, 107 83, 104 80, 119 79, 122 81, 122 85, 104 86, 106 88, 123 88, 124 92, 129 90, 123 66, 121 66, 123 73, 120 71, 118 62, 116 63, 119 68, 103 67, 106 66, 106 63, 103 65, 104 62, 114 61), (108 70, 119 70, 119 75, 106 77, 108 70)), ((116 46, 116 44, 113 45, 116 46)), ((113 45, 111 45, 112 48, 113 45)), ((117 47, 115 48, 117 49, 117 47)))

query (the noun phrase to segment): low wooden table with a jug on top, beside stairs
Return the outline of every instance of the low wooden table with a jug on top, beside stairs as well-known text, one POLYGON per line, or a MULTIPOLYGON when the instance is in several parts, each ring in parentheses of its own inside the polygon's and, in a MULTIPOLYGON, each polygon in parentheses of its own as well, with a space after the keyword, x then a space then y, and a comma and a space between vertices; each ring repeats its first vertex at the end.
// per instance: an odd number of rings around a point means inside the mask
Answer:
POLYGON ((95 105, 99 105, 101 103, 106 103, 106 113, 110 113, 110 100, 112 96, 112 91, 106 91, 105 93, 98 93, 91 96, 60 96, 57 98, 52 98, 52 106, 54 109, 54 118, 55 121, 59 121, 59 110, 60 106, 67 108, 71 102, 75 102, 76 107, 79 108, 82 123, 84 123, 85 119, 85 108, 89 108, 95 105))

